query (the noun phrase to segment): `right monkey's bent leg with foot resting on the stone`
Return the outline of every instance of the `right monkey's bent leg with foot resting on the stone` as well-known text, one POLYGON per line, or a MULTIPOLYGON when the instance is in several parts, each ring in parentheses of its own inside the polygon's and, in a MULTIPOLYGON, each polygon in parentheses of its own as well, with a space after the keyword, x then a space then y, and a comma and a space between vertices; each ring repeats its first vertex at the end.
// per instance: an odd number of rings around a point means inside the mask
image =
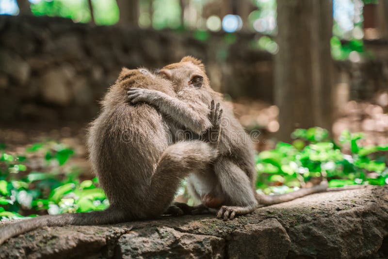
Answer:
POLYGON ((217 218, 233 219, 235 215, 243 215, 254 211, 258 202, 252 190, 251 182, 244 171, 226 158, 218 159, 214 171, 221 184, 226 199, 232 206, 222 206, 217 218))

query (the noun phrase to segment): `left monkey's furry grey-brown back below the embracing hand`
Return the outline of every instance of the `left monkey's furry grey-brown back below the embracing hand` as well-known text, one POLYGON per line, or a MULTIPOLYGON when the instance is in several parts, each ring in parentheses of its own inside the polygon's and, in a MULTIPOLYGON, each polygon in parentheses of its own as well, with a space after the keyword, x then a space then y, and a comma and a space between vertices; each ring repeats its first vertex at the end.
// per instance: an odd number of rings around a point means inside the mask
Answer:
POLYGON ((111 206, 131 210, 129 217, 146 218, 153 210, 148 186, 170 143, 170 129, 155 108, 127 103, 127 89, 116 85, 107 93, 89 129, 89 156, 111 206))

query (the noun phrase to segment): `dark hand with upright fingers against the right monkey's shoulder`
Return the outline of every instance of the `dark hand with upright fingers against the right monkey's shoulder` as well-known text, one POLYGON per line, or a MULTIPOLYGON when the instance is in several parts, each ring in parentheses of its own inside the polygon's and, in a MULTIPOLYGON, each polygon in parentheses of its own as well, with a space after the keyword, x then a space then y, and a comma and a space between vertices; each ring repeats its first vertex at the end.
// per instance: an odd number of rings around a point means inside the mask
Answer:
POLYGON ((202 134, 201 138, 203 141, 218 144, 218 139, 221 133, 221 118, 223 110, 220 108, 220 103, 214 105, 214 100, 211 100, 209 108, 209 120, 211 122, 211 127, 202 134))

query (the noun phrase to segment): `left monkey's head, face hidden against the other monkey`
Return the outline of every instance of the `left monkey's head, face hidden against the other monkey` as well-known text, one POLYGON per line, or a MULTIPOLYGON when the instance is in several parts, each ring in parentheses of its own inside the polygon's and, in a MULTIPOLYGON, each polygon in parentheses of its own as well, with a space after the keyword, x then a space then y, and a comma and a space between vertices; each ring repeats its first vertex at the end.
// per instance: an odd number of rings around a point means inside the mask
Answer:
POLYGON ((171 81, 152 73, 146 68, 128 69, 123 67, 115 85, 125 91, 132 87, 138 87, 158 90, 168 95, 175 93, 171 81))

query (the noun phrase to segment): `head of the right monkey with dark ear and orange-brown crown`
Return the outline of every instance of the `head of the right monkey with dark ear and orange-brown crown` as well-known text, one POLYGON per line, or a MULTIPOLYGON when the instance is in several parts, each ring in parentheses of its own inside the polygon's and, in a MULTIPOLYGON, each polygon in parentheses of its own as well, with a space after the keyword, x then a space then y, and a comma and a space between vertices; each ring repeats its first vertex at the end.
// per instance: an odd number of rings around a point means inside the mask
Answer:
POLYGON ((186 56, 178 63, 164 66, 159 71, 159 75, 172 81, 175 91, 185 87, 210 90, 205 65, 199 59, 192 56, 186 56))

